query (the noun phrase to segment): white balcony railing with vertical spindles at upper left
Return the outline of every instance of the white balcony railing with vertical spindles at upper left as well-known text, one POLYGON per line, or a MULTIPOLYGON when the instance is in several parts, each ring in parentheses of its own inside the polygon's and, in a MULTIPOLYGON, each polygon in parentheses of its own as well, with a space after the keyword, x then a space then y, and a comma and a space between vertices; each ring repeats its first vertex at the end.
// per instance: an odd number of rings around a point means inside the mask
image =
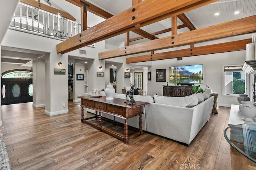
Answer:
POLYGON ((10 26, 60 39, 68 39, 81 32, 81 25, 77 22, 20 2, 10 26))

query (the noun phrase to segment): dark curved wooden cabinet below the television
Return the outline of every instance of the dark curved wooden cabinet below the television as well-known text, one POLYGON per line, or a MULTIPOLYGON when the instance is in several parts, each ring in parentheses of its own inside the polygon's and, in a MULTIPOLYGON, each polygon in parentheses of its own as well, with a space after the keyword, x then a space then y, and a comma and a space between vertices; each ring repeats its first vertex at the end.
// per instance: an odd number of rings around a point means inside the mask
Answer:
POLYGON ((163 96, 184 97, 193 93, 192 86, 163 86, 163 96))

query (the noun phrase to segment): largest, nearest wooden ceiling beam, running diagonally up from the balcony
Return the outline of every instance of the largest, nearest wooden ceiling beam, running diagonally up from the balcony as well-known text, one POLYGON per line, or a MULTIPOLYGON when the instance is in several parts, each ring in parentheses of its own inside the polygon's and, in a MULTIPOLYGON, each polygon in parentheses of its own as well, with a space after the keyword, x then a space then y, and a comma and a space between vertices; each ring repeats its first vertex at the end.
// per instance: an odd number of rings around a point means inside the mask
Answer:
POLYGON ((127 28, 130 28, 128 29, 128 31, 130 31, 134 26, 141 27, 141 23, 159 18, 166 14, 182 14, 216 1, 218 0, 144 0, 106 21, 83 31, 80 35, 75 35, 59 43, 56 48, 57 53, 67 53, 70 49, 78 49, 82 44, 92 43, 93 41, 98 42, 102 37, 108 35, 112 35, 113 37, 114 33, 122 32, 122 30, 127 28), (154 8, 152 8, 152 6, 154 6, 154 8), (135 8, 134 12, 132 12, 132 8, 135 8))

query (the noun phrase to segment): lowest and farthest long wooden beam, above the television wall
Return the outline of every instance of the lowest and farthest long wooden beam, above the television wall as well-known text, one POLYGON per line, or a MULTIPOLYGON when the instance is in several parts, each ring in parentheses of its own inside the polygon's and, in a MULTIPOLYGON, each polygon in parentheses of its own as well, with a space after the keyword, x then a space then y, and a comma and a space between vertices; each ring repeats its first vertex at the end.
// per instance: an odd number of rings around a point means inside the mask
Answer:
POLYGON ((252 39, 244 39, 244 40, 232 41, 227 43, 206 45, 201 47, 192 46, 189 49, 168 51, 164 53, 156 53, 156 54, 143 55, 138 57, 129 57, 129 58, 126 58, 126 63, 139 63, 144 61, 156 61, 156 60, 174 59, 179 57, 191 57, 191 56, 198 56, 198 55, 207 55, 207 54, 245 50, 245 45, 251 42, 252 42, 252 39))

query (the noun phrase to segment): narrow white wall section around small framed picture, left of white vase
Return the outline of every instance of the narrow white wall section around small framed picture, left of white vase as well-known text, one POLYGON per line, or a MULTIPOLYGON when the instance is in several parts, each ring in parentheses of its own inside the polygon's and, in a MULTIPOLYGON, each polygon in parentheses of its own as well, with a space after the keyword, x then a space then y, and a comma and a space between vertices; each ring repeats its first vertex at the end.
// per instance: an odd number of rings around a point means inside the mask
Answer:
MULTIPOLYGON (((74 63, 74 97, 73 102, 80 102, 81 99, 77 96, 84 96, 84 80, 77 80, 77 74, 83 74, 84 77, 84 64, 74 63)), ((83 78, 84 79, 84 78, 83 78)))

